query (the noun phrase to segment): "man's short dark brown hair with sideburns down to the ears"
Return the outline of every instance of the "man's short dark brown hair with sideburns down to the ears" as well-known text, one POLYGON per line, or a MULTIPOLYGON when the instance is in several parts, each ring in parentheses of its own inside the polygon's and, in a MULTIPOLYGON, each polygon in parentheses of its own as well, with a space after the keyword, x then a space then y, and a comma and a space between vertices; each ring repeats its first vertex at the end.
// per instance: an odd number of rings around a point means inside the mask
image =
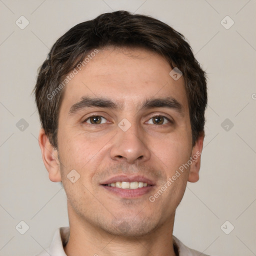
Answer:
MULTIPOLYGON (((34 87, 41 126, 57 148, 58 115, 63 89, 47 96, 86 54, 106 46, 142 47, 163 56, 183 74, 188 99, 192 144, 204 134, 207 104, 205 72, 194 58, 184 36, 164 22, 128 11, 103 13, 70 28, 52 46, 40 67, 34 87)), ((63 87, 63 86, 61 86, 63 87)))

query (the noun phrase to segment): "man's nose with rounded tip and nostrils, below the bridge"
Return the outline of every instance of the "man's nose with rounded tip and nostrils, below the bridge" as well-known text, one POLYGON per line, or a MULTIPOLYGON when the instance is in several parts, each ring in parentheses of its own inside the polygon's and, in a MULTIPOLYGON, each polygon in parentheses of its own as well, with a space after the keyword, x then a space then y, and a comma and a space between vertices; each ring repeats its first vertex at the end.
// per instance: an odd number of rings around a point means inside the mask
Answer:
POLYGON ((117 133, 113 137, 110 149, 110 157, 116 161, 127 163, 139 163, 150 158, 150 150, 143 139, 143 132, 139 131, 136 124, 123 131, 117 127, 117 133))

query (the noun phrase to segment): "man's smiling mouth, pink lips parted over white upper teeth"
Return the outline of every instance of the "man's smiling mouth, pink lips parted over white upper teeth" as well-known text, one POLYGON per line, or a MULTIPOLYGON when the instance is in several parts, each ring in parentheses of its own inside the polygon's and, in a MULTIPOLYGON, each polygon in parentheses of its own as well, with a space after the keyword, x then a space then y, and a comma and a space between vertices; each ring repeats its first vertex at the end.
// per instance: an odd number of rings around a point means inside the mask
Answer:
POLYGON ((104 181, 101 185, 120 197, 134 198, 148 193, 155 184, 143 176, 118 176, 104 181))

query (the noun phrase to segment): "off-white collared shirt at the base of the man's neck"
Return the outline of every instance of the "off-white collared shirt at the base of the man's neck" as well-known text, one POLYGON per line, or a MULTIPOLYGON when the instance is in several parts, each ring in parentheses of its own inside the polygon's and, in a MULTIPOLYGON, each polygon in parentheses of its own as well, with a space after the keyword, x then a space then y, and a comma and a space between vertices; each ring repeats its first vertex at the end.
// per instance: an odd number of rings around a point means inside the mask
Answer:
MULTIPOLYGON (((36 256, 66 256, 63 246, 66 245, 69 237, 69 227, 63 226, 58 228, 54 235, 52 242, 47 250, 42 251, 36 256)), ((186 247, 180 240, 175 236, 172 236, 174 242, 178 247, 179 256, 208 256, 197 250, 186 247)))

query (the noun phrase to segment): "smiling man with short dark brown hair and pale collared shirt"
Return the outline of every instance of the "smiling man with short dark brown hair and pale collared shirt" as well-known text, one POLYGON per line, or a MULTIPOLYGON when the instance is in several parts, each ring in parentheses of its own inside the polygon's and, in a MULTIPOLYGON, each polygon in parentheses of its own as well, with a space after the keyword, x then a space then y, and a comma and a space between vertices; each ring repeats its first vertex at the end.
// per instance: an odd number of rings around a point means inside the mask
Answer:
POLYGON ((186 183, 199 178, 207 102, 180 33, 127 11, 77 24, 52 46, 35 97, 70 226, 38 255, 204 255, 172 236, 186 183))

